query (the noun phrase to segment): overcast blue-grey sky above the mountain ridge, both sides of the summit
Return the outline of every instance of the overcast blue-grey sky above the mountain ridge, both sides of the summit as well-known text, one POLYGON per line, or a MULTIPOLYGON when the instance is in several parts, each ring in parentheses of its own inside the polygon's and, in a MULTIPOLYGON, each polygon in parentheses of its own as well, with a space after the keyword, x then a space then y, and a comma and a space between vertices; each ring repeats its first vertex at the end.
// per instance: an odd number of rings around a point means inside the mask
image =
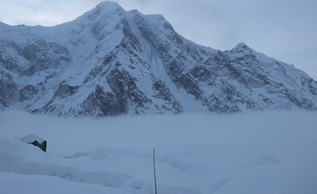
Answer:
MULTIPOLYGON (((55 26, 100 0, 0 0, 9 25, 55 26)), ((176 32, 198 44, 229 50, 244 42, 293 64, 317 80, 316 0, 117 0, 125 10, 162 14, 176 32)))

